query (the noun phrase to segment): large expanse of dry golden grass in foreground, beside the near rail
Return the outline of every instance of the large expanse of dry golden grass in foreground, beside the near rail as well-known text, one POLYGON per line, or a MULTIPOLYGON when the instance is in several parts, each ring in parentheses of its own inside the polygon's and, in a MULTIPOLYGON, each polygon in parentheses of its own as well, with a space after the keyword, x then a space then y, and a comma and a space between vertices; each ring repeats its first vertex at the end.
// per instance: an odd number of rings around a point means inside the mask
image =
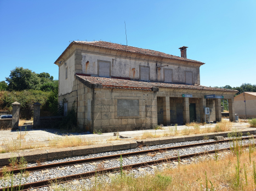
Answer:
MULTIPOLYGON (((220 155, 220 153, 217 153, 220 155)), ((163 171, 156 170, 144 176, 135 177, 133 174, 116 175, 111 182, 98 177, 93 182, 92 188, 77 190, 256 190, 256 171, 254 161, 256 153, 242 151, 238 156, 225 153, 225 157, 218 159, 200 159, 197 163, 178 165, 177 168, 166 168, 163 171)), ((72 190, 72 188, 58 187, 56 190, 72 190)))

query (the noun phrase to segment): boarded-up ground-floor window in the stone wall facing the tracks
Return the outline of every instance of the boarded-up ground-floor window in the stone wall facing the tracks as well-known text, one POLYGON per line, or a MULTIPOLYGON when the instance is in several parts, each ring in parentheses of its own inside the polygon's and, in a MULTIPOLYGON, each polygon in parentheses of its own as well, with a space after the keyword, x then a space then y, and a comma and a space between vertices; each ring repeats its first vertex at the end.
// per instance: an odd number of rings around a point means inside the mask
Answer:
POLYGON ((139 116, 139 100, 117 99, 117 116, 139 116))

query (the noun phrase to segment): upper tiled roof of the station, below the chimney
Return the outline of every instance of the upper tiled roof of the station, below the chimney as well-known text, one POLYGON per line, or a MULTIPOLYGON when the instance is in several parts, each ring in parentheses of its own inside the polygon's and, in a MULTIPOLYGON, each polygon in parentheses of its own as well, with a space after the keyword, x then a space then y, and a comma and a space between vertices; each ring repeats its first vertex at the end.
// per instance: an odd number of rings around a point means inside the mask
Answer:
MULTIPOLYGON (((72 41, 72 43, 69 46, 71 46, 72 44, 88 45, 88 46, 100 47, 103 49, 138 53, 141 55, 149 55, 149 56, 161 57, 161 58, 178 59, 181 61, 200 63, 201 65, 204 64, 203 62, 199 62, 199 61, 195 61, 192 59, 187 59, 187 58, 183 58, 183 57, 179 57, 179 56, 168 55, 167 53, 163 53, 163 52, 159 52, 159 51, 155 51, 155 50, 141 49, 139 47, 126 46, 126 45, 121 45, 121 44, 116 44, 116 43, 109 43, 109 42, 101 41, 101 40, 100 41, 72 41)), ((68 49, 68 47, 67 47, 67 49, 68 49)), ((64 52, 61 55, 63 55, 64 52)))

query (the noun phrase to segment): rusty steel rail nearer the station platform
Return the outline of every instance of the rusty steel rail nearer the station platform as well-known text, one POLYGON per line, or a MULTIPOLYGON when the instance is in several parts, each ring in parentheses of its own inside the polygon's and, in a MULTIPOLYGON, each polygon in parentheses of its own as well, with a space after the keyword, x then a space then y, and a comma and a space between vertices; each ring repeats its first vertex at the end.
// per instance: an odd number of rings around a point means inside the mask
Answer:
MULTIPOLYGON (((238 138, 238 139, 247 140, 247 139, 251 139, 251 138, 255 138, 255 137, 256 136, 251 136, 251 137, 238 138)), ((225 139, 225 140, 220 140, 220 141, 201 142, 201 143, 198 143, 198 144, 191 144, 191 145, 181 145, 181 146, 174 146, 174 147, 156 148, 156 149, 152 149, 152 150, 123 153, 122 157, 130 157, 130 156, 136 156, 136 155, 152 153, 152 152, 178 150, 178 149, 181 149, 181 148, 190 148, 190 147, 197 147, 197 146, 203 146, 203 145, 215 145, 215 144, 219 144, 219 143, 223 143, 223 142, 229 142, 231 140, 232 139, 225 139)), ((67 162, 45 164, 45 165, 37 165, 37 166, 27 167, 23 170, 26 170, 28 172, 32 172, 32 171, 39 171, 39 170, 45 170, 45 169, 52 169, 52 168, 56 168, 56 167, 70 166, 70 165, 75 165, 75 164, 99 162, 99 161, 102 161, 102 160, 110 160, 110 159, 120 158, 120 155, 121 154, 114 154, 114 155, 110 155, 110 156, 87 158, 87 159, 81 159, 81 160, 72 160, 72 161, 67 161, 67 162)), ((18 174, 21 170, 22 169, 14 169, 13 174, 18 174)))

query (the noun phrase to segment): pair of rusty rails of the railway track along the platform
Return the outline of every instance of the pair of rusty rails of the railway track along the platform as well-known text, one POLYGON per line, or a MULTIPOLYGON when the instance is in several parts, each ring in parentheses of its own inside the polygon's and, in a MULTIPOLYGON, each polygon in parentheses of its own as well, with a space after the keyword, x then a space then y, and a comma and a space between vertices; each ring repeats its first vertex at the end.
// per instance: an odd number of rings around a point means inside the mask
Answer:
MULTIPOLYGON (((253 137, 240 138, 240 140, 248 140, 248 139, 251 139, 251 138, 254 138, 254 136, 253 137)), ((40 170, 54 169, 54 168, 58 168, 58 167, 63 168, 65 166, 71 166, 71 165, 78 165, 79 166, 79 165, 84 164, 84 163, 96 163, 96 162, 103 162, 105 160, 118 159, 118 158, 121 157, 121 155, 122 155, 122 158, 143 156, 143 155, 149 154, 149 153, 163 153, 163 152, 180 150, 180 149, 191 148, 191 147, 199 147, 199 146, 206 146, 206 145, 217 145, 217 144, 221 144, 221 143, 229 142, 229 141, 230 140, 226 139, 226 140, 221 140, 221 141, 203 142, 203 143, 192 144, 192 145, 182 145, 182 146, 175 146, 175 147, 158 148, 158 149, 153 149, 153 150, 145 150, 145 151, 138 151, 138 152, 115 154, 115 155, 104 156, 104 157, 88 158, 88 159, 82 159, 82 160, 73 160, 73 161, 69 161, 69 162, 61 162, 61 163, 54 163, 54 164, 47 164, 47 165, 37 165, 37 166, 32 166, 32 167, 26 168, 25 170, 28 171, 28 172, 34 172, 34 171, 40 171, 40 170)), ((248 146, 248 145, 244 145, 244 146, 248 146)), ((151 165, 157 165, 157 164, 167 163, 167 162, 174 162, 174 161, 177 161, 177 160, 183 160, 183 159, 188 159, 188 158, 192 158, 192 157, 203 156, 203 155, 206 155, 206 154, 221 152, 221 151, 225 151, 225 150, 230 150, 230 147, 229 148, 221 148, 221 149, 218 149, 218 150, 215 149, 215 150, 211 150, 211 151, 197 152, 197 153, 193 153, 193 154, 186 154, 186 155, 175 156, 175 157, 166 157, 166 158, 162 158, 162 159, 158 159, 158 160, 151 160, 151 161, 147 161, 147 162, 143 162, 143 163, 124 165, 123 169, 124 170, 126 170, 126 169, 131 170, 131 169, 137 169, 137 168, 145 168, 145 167, 151 166, 151 165)), ((79 179, 86 178, 86 177, 92 177, 92 176, 95 176, 96 173, 100 174, 100 175, 105 175, 105 174, 109 174, 109 173, 112 173, 112 172, 119 172, 119 171, 120 171, 119 167, 107 168, 107 169, 103 169, 103 170, 89 171, 89 172, 84 172, 84 173, 75 174, 75 175, 56 177, 56 178, 50 178, 48 180, 26 183, 26 184, 22 184, 21 186, 22 186, 23 190, 30 190, 31 188, 37 189, 37 188, 49 186, 50 184, 56 183, 56 182, 65 183, 65 182, 69 182, 69 181, 72 181, 72 180, 79 180, 79 179)), ((19 172, 20 172, 20 169, 14 169, 14 171, 13 171, 14 174, 18 174, 19 172)), ((18 188, 18 186, 14 186, 13 188, 16 190, 16 188, 18 188)), ((7 189, 7 188, 0 188, 0 191, 2 191, 4 189, 7 189)))

